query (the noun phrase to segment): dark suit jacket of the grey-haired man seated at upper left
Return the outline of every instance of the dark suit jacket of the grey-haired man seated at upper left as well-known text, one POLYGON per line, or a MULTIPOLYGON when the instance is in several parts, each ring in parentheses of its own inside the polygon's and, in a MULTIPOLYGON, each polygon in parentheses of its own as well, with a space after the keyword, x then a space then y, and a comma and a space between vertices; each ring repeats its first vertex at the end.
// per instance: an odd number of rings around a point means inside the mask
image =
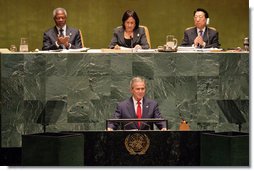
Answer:
MULTIPOLYGON (((53 27, 46 31, 43 35, 43 47, 42 50, 56 50, 62 49, 61 46, 56 46, 58 31, 56 27, 53 27)), ((82 48, 82 42, 79 30, 74 28, 66 27, 66 36, 70 36, 69 43, 71 44, 71 49, 82 48)))

